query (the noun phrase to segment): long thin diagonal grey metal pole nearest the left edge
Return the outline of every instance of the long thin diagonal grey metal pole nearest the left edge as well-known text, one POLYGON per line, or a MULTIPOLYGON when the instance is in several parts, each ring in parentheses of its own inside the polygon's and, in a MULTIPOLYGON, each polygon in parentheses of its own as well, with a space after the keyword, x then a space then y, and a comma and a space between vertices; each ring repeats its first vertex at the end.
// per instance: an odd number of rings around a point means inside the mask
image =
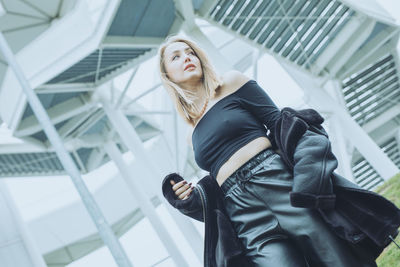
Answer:
POLYGON ((100 211, 100 208, 97 206, 97 203, 94 201, 91 196, 89 190, 87 189, 85 183, 82 180, 81 174, 73 162, 70 154, 64 147, 64 144, 58 135, 54 125, 51 123, 46 110, 43 108, 42 103, 39 98, 31 88, 28 80, 25 78, 25 75, 22 72, 22 69, 19 67, 14 54, 9 48, 7 41, 5 40, 3 34, 0 32, 0 49, 4 54, 4 57, 14 71, 18 81, 21 84, 23 91, 26 94, 28 102, 33 110, 33 113, 37 117, 38 121, 43 127, 44 132, 46 133, 50 143, 53 145, 58 158, 61 161, 65 171, 71 177, 72 182, 74 183, 81 199, 93 219, 97 229, 99 230, 99 234, 104 241, 104 244, 109 248, 112 256, 114 257, 116 263, 120 267, 130 267, 132 264, 130 263, 125 251, 123 250, 119 240, 114 235, 111 227, 108 225, 105 217, 100 211))

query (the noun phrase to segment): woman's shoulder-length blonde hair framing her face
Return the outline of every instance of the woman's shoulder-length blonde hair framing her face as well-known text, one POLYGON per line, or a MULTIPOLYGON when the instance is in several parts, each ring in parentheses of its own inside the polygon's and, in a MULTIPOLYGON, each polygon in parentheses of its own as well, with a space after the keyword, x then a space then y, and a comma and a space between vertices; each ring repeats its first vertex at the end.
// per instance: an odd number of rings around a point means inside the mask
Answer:
POLYGON ((217 88, 222 85, 222 80, 215 72, 207 54, 195 42, 186 38, 174 35, 168 37, 163 44, 161 44, 158 57, 159 57, 159 71, 160 78, 164 88, 171 96, 178 114, 193 127, 200 113, 200 110, 194 105, 194 100, 197 99, 196 93, 181 88, 168 78, 165 65, 164 65, 164 52, 167 46, 173 43, 182 42, 186 43, 196 54, 200 60, 202 69, 203 89, 205 90, 208 99, 214 98, 217 88))

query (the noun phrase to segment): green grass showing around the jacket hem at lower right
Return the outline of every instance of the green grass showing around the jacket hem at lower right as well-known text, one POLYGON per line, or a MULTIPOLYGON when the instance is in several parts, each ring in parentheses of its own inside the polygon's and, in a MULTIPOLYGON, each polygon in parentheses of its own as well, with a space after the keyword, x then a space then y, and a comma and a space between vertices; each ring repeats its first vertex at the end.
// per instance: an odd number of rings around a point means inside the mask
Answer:
MULTIPOLYGON (((400 207, 400 174, 379 186, 375 192, 392 201, 397 207, 400 207)), ((400 244, 400 234, 397 235, 395 241, 397 244, 400 244)), ((400 249, 392 242, 378 257, 376 263, 379 267, 400 266, 400 249)))

